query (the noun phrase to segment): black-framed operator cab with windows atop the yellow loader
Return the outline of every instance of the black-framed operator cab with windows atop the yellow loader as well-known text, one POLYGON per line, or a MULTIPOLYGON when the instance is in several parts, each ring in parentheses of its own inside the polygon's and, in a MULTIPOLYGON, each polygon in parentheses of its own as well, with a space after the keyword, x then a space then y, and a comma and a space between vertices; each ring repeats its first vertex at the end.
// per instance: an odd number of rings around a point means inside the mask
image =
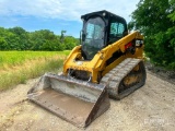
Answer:
POLYGON ((128 34, 125 19, 108 11, 82 15, 82 56, 91 60, 96 52, 128 34))

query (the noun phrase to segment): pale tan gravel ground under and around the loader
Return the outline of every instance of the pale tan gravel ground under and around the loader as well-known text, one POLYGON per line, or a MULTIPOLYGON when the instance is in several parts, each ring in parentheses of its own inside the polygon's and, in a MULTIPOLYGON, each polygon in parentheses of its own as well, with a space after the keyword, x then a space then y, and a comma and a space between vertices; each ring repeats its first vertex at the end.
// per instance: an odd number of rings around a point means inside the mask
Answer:
POLYGON ((80 129, 28 102, 26 93, 38 79, 0 93, 0 131, 174 131, 175 85, 148 72, 147 83, 80 129))

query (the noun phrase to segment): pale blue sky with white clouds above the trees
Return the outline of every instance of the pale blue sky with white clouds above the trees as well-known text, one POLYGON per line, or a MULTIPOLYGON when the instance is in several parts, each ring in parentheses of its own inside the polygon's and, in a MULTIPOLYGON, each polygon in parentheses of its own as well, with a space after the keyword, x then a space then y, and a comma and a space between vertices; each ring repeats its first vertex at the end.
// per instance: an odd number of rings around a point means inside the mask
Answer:
POLYGON ((21 26, 27 32, 50 29, 57 35, 79 37, 81 15, 107 10, 127 22, 139 0, 0 0, 0 26, 21 26))

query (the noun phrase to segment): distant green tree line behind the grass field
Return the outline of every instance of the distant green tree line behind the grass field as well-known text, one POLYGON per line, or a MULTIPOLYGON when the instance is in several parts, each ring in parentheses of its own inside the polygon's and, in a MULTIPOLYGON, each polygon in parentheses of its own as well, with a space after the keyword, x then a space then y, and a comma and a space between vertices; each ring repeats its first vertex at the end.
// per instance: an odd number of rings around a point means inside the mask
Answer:
POLYGON ((26 32, 22 27, 0 27, 0 50, 70 50, 79 45, 79 39, 55 35, 49 29, 26 32))

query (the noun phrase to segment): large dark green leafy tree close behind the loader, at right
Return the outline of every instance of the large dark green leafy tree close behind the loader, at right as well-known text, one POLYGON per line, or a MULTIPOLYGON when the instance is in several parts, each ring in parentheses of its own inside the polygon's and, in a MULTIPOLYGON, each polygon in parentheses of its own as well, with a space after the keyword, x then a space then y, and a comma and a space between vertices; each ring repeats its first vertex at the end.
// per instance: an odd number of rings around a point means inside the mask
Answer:
POLYGON ((175 0, 140 0, 131 19, 128 27, 144 35, 151 61, 175 70, 175 0))

